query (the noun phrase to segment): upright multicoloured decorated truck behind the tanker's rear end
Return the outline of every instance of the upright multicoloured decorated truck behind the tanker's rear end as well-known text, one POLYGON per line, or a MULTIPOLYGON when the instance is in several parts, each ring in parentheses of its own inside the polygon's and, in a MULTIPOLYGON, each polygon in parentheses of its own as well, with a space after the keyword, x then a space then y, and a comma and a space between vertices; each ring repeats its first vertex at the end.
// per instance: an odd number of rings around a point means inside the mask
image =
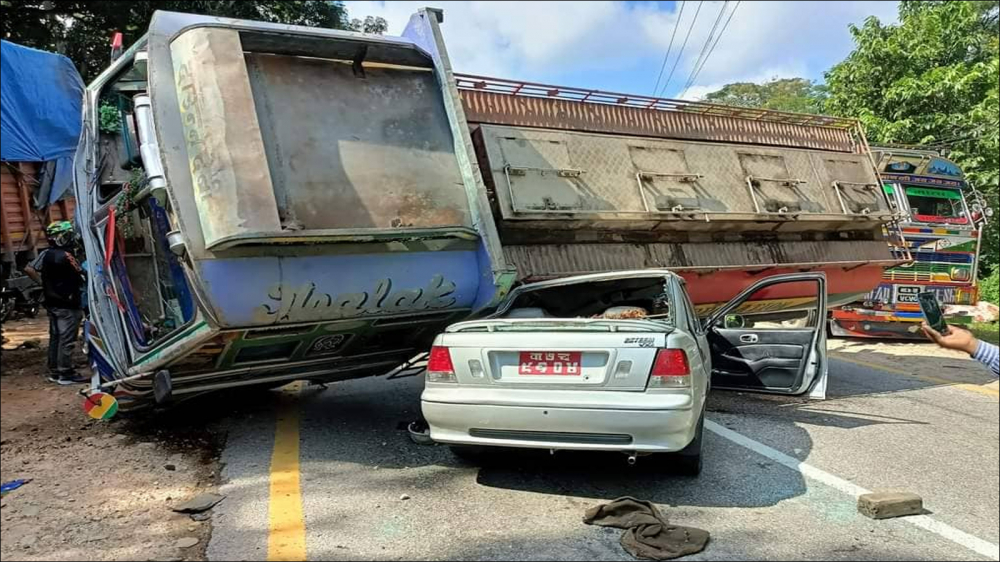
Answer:
POLYGON ((887 268, 865 298, 834 310, 832 333, 923 339, 917 294, 924 291, 935 293, 949 323, 968 323, 979 300, 982 227, 992 209, 938 152, 885 147, 873 155, 890 203, 906 217, 903 243, 893 251, 908 251, 913 261, 887 268))

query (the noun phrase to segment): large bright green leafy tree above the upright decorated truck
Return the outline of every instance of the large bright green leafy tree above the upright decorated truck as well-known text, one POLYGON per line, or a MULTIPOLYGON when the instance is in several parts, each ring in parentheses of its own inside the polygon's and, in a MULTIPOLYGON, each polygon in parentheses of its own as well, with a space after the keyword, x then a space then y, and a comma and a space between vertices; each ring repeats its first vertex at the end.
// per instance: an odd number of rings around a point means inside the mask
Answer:
MULTIPOLYGON (((852 26, 856 47, 826 74, 830 113, 857 117, 873 143, 949 150, 997 207, 1000 2, 904 1, 899 23, 852 26)), ((984 263, 998 259, 995 217, 983 236, 984 263)))

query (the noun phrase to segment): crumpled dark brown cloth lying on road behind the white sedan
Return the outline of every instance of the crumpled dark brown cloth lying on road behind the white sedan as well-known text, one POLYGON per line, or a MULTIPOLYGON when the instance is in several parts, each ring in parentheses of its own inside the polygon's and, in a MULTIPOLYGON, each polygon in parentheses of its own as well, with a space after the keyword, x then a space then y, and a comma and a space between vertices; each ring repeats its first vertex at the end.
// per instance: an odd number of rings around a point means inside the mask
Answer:
POLYGON ((708 531, 672 525, 652 503, 630 497, 588 509, 583 522, 625 529, 622 547, 645 560, 687 556, 701 552, 708 544, 708 531))

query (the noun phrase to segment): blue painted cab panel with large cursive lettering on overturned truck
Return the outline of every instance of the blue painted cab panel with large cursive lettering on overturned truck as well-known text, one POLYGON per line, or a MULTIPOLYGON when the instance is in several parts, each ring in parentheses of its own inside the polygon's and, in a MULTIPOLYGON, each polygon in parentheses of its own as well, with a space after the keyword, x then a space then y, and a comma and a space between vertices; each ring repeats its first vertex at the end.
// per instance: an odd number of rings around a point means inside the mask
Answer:
POLYGON ((484 281, 475 251, 223 258, 198 268, 224 328, 471 308, 484 281))

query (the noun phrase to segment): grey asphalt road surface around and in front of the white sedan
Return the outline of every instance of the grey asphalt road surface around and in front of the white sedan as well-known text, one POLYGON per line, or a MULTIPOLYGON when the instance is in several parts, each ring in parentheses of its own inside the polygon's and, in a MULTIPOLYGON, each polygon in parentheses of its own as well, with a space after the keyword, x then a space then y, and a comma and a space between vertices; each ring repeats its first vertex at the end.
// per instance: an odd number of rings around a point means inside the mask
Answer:
POLYGON ((714 393, 699 478, 617 454, 465 464, 407 437, 419 379, 271 393, 225 422, 227 499, 208 554, 629 560, 620 531, 581 523, 587 507, 628 495, 708 530, 693 560, 997 560, 997 383, 972 362, 909 359, 940 361, 938 374, 845 358, 832 361, 826 401, 714 393), (878 489, 916 492, 929 513, 858 515, 855 494, 878 489))

